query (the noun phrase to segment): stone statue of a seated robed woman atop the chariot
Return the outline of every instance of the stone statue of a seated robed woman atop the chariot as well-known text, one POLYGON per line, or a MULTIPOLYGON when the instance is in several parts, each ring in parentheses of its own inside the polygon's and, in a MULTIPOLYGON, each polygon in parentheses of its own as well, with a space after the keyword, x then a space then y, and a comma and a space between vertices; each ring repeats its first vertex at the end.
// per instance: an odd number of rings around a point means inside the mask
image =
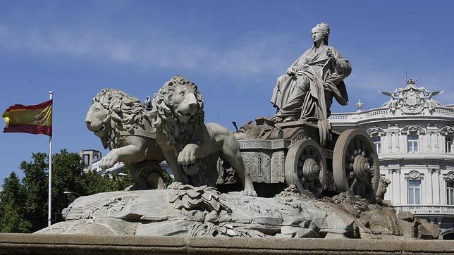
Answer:
POLYGON ((278 77, 271 104, 277 108, 272 118, 276 123, 315 118, 327 120, 329 108, 336 98, 348 104, 343 79, 350 75, 350 62, 328 46, 329 25, 319 23, 312 28, 314 45, 305 51, 286 74, 278 77))

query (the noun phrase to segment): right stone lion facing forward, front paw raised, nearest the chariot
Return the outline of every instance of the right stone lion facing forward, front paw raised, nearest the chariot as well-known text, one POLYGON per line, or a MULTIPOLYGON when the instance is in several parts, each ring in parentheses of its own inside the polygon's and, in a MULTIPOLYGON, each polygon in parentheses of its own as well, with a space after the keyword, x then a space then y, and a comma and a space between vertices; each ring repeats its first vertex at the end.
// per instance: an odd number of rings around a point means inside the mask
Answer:
POLYGON ((244 193, 257 196, 233 133, 216 123, 204 123, 202 95, 194 83, 183 76, 166 82, 153 99, 150 116, 177 182, 216 185, 216 162, 221 156, 238 173, 244 193))

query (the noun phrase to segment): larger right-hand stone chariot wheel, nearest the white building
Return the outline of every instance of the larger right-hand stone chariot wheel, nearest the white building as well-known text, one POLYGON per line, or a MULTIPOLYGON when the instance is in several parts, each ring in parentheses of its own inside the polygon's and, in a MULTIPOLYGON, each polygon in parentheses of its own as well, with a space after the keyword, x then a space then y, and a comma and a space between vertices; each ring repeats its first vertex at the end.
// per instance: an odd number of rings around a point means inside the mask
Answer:
POLYGON ((340 134, 334 146, 333 178, 339 192, 350 192, 352 199, 375 199, 379 157, 366 132, 349 129, 340 134))

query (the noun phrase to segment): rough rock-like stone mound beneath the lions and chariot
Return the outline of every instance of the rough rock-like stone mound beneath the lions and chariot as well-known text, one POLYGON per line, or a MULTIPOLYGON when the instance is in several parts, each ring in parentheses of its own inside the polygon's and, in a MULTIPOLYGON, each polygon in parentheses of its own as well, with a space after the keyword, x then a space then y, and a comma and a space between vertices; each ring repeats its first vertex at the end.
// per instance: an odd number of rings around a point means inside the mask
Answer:
MULTIPOLYGON (((411 230, 400 230, 392 208, 309 199, 297 194, 295 187, 273 198, 221 194, 207 186, 173 187, 79 197, 63 210, 66 221, 37 233, 404 239, 403 233, 411 230)), ((431 230, 427 224, 424 231, 431 230)), ((422 235, 435 237, 429 232, 422 235)))

